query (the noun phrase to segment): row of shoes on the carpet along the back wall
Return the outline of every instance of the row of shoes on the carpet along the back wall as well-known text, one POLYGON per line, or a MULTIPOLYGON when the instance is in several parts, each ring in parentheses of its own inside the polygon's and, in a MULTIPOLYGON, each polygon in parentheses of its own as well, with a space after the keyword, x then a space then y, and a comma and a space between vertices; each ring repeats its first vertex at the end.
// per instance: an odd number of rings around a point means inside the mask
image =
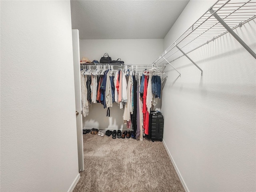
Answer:
POLYGON ((111 131, 111 130, 98 130, 96 128, 92 128, 92 129, 84 129, 83 130, 83 134, 87 134, 87 133, 91 133, 93 135, 96 135, 98 134, 99 136, 104 136, 106 134, 106 136, 110 136, 112 135, 112 138, 113 139, 116 139, 116 137, 118 139, 122 138, 122 139, 125 139, 125 138, 134 138, 135 139, 135 135, 133 134, 133 131, 123 131, 121 132, 121 130, 114 130, 114 131, 111 131))

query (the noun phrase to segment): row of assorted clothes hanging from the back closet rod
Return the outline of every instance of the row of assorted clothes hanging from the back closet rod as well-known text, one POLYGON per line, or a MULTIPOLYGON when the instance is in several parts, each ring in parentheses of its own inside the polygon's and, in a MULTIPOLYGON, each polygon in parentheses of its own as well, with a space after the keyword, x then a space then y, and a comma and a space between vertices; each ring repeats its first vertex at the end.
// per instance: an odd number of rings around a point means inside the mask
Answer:
POLYGON ((143 134, 148 135, 149 113, 151 106, 161 98, 160 76, 147 76, 143 73, 129 70, 91 68, 81 71, 82 113, 89 114, 89 104, 100 102, 108 108, 117 102, 124 110, 123 121, 127 128, 133 128, 133 136, 143 140, 143 134), (142 76, 140 76, 142 75, 142 76))

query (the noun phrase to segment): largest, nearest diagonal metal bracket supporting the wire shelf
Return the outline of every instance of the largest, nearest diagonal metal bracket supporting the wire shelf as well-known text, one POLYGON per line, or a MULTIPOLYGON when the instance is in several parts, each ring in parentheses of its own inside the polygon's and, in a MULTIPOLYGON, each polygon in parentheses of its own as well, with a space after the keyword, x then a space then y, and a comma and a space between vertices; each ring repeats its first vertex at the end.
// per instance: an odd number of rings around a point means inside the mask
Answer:
MULTIPOLYGON (((213 9, 210 9, 209 12, 211 14, 214 13, 213 9)), ((217 13, 214 13, 213 16, 230 32, 230 34, 256 59, 256 54, 253 52, 253 50, 218 16, 217 13)))

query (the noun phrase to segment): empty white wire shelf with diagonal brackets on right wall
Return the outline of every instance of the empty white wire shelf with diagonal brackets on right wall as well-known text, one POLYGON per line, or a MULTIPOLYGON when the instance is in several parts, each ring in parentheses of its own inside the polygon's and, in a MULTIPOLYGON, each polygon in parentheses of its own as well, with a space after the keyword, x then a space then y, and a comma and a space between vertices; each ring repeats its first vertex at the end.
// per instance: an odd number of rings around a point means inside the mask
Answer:
MULTIPOLYGON (((171 62, 186 56, 201 70, 202 75, 202 69, 187 54, 228 32, 256 59, 256 54, 233 31, 255 18, 256 0, 218 0, 173 42, 153 64, 156 66, 170 64, 172 66, 171 62)), ((174 68, 174 66, 172 67, 174 68)), ((178 72, 178 70, 176 71, 178 72)), ((180 74, 180 72, 178 73, 180 74)))

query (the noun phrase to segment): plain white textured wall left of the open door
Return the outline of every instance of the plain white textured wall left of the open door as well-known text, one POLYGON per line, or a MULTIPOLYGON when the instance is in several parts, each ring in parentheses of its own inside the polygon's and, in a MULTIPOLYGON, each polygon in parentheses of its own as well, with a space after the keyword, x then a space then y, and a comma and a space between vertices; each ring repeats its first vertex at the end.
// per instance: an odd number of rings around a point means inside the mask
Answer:
POLYGON ((69 1, 1 1, 1 192, 78 176, 69 1))

